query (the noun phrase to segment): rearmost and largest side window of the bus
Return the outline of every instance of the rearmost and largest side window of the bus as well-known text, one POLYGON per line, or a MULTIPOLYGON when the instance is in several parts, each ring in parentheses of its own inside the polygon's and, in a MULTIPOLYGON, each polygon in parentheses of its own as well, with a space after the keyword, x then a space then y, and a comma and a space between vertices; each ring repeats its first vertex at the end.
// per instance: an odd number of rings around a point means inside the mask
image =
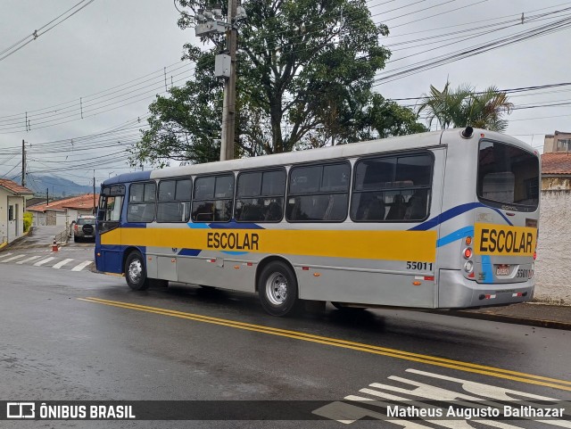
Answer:
POLYGON ((433 158, 429 153, 357 161, 351 219, 423 220, 428 216, 433 158))

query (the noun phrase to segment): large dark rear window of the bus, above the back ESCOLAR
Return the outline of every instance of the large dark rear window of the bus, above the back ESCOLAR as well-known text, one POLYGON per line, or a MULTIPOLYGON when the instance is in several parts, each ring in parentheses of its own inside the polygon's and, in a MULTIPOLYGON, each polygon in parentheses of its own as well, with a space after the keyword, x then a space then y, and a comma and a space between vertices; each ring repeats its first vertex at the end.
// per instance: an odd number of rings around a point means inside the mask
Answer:
POLYGON ((537 209, 538 158, 511 144, 480 142, 477 195, 491 205, 515 204, 510 210, 537 209))

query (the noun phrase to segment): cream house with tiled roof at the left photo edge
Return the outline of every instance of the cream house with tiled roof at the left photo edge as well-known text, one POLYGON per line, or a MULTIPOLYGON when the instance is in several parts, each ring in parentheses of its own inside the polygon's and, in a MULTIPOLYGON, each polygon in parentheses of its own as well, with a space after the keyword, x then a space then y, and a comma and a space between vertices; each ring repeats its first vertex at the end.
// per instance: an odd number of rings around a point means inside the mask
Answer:
POLYGON ((0 244, 12 243, 24 234, 26 200, 33 195, 27 187, 0 178, 0 244))

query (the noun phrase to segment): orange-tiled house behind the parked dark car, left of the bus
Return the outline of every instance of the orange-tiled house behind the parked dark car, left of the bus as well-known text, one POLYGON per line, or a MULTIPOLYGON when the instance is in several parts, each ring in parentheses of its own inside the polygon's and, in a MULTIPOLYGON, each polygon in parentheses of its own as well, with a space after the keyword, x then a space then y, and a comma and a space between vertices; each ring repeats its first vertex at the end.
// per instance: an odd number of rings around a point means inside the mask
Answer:
POLYGON ((34 214, 33 225, 69 227, 80 215, 92 215, 97 208, 99 194, 83 194, 54 202, 42 202, 29 206, 27 211, 34 214))

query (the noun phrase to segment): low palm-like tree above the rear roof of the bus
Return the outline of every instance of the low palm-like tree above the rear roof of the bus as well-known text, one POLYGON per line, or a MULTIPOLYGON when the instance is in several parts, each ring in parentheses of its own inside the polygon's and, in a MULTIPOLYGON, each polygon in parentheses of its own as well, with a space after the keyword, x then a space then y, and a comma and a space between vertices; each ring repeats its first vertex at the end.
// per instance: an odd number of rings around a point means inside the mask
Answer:
POLYGON ((509 114, 513 108, 508 95, 497 87, 488 87, 483 92, 476 92, 474 87, 468 85, 451 89, 448 81, 442 91, 431 85, 430 94, 423 97, 418 105, 418 114, 426 111, 428 124, 432 125, 437 120, 441 128, 469 125, 503 131, 508 128, 508 121, 503 120, 502 116, 509 114))

